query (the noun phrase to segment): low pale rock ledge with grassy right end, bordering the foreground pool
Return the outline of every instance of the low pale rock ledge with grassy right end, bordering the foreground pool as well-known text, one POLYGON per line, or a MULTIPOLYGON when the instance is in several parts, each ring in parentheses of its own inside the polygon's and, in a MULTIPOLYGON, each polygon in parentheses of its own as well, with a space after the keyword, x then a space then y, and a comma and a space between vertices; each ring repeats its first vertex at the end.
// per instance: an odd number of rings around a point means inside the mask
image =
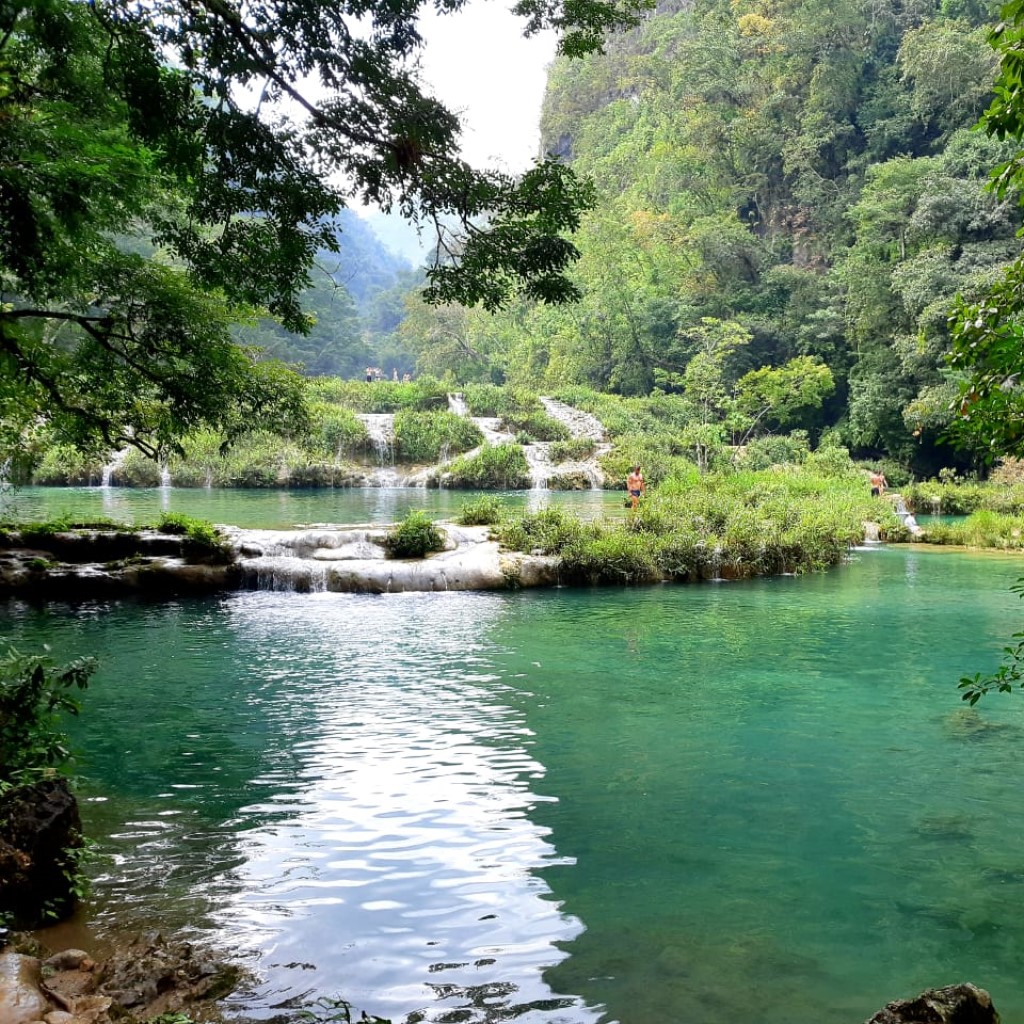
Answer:
POLYGON ((206 545, 155 529, 8 530, 0 534, 0 595, 88 600, 231 590, 386 594, 698 583, 824 568, 864 536, 863 525, 848 517, 786 527, 772 516, 748 515, 730 525, 692 514, 683 522, 668 506, 650 505, 608 524, 548 509, 485 525, 440 523, 443 550, 392 558, 387 541, 394 528, 219 526, 206 545))

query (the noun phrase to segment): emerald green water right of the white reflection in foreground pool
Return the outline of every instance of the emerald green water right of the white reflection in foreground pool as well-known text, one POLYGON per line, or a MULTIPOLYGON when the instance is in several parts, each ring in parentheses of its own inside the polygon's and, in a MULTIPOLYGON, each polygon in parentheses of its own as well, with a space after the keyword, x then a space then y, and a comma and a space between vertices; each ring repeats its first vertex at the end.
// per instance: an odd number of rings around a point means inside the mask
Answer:
POLYGON ((965 722, 955 691, 1013 618, 978 569, 521 601, 499 664, 557 798, 540 874, 587 925, 552 988, 610 1020, 839 1024, 970 978, 1019 1015, 1024 722, 965 722))

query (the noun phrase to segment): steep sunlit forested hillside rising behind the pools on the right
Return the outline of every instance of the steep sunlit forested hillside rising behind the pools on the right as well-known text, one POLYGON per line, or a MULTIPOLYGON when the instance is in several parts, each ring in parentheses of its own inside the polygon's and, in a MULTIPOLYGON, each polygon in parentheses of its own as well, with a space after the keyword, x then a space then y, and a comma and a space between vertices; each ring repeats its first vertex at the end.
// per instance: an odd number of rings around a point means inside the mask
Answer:
POLYGON ((575 240, 583 298, 414 309, 421 369, 678 393, 713 442, 828 428, 920 473, 968 465, 943 441, 947 317, 1021 248, 1017 197, 986 190, 1012 146, 971 130, 995 12, 669 0, 604 54, 557 61, 544 145, 598 190, 575 240), (750 392, 773 388, 813 400, 752 424, 750 392))

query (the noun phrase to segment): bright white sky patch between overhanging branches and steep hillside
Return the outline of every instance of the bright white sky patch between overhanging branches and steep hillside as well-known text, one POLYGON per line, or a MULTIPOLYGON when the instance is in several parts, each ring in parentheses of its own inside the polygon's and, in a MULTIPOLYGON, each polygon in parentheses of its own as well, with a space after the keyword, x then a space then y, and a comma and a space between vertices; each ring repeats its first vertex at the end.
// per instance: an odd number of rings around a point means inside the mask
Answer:
MULTIPOLYGON (((508 0, 506 0, 508 2, 508 0)), ((464 123, 463 156, 474 167, 516 172, 540 151, 541 102, 555 34, 522 38, 503 0, 470 0, 461 11, 426 10, 424 80, 464 123)))

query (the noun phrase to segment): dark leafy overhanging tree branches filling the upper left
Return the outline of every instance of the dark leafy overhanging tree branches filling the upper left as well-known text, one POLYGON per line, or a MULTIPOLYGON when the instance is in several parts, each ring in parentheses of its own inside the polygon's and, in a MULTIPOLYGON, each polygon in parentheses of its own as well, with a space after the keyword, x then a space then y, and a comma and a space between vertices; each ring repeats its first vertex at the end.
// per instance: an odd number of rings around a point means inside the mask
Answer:
MULTIPOLYGON (((455 15, 464 0, 437 6, 455 15)), ((200 424, 301 414, 287 374, 229 340, 241 312, 308 330, 300 296, 351 202, 430 221, 429 291, 561 301, 589 190, 459 156, 425 92, 421 0, 0 4, 0 425, 158 454, 200 424)), ((520 0, 579 55, 643 0, 520 0)))

